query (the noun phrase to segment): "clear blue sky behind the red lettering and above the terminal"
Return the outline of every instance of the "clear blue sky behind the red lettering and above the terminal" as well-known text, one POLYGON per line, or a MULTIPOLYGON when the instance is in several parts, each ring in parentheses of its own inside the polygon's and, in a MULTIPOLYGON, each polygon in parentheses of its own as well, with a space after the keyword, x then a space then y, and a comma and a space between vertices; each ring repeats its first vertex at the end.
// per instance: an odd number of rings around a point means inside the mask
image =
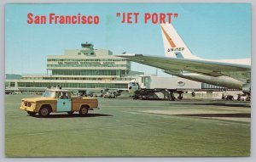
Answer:
MULTIPOLYGON (((47 55, 92 42, 113 54, 164 56, 160 24, 144 24, 144 13, 177 13, 172 19, 190 51, 205 59, 251 57, 249 3, 52 3, 5 6, 5 73, 46 74, 47 55), (139 13, 137 24, 122 24, 116 13, 139 13), (30 25, 27 14, 98 15, 98 25, 30 25)), ((132 63, 131 70, 156 69, 132 63)), ((158 75, 166 75, 158 70, 158 75)))

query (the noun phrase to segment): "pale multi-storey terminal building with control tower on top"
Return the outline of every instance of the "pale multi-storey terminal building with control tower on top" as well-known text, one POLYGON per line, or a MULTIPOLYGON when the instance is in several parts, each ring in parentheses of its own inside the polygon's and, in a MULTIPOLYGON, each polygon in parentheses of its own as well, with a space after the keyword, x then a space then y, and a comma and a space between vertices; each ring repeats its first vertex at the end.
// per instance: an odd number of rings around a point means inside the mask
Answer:
POLYGON ((126 89, 129 81, 142 72, 132 71, 131 62, 106 49, 82 43, 81 49, 65 50, 47 57, 46 75, 6 75, 5 87, 14 91, 44 91, 59 85, 65 89, 126 89))

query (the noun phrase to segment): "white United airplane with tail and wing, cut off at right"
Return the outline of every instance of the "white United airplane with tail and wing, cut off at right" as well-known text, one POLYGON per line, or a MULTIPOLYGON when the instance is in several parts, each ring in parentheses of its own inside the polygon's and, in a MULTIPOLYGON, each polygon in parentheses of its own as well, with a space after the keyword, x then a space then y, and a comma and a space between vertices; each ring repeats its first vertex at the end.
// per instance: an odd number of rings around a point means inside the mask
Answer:
POLYGON ((172 24, 161 24, 165 55, 119 54, 133 62, 160 68, 167 74, 192 81, 239 89, 251 94, 251 59, 201 59, 189 50, 172 24))

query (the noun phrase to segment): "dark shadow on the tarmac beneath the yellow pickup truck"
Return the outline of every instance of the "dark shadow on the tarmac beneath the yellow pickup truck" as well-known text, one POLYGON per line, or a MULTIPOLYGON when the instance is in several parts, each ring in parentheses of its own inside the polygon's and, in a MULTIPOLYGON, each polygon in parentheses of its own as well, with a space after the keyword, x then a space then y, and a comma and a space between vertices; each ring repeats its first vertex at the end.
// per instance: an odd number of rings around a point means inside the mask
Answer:
MULTIPOLYGON (((28 115, 30 116, 30 115, 28 115)), ((90 118, 90 117, 102 117, 102 116, 113 116, 113 115, 104 115, 104 114, 88 114, 88 115, 84 115, 81 116, 79 114, 73 114, 73 115, 49 115, 47 117, 40 117, 39 115, 35 115, 35 116, 30 116, 30 117, 34 117, 34 118, 48 118, 48 119, 54 119, 54 118, 90 118)))

